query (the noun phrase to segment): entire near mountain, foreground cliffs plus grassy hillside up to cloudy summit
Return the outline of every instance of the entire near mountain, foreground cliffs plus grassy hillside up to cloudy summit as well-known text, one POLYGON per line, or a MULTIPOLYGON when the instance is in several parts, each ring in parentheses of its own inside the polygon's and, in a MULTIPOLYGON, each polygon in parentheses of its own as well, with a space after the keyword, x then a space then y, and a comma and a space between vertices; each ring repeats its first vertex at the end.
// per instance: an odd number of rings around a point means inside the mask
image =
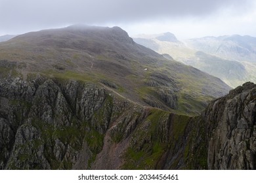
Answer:
POLYGON ((252 83, 228 93, 119 27, 26 33, 0 58, 0 169, 255 169, 252 83))

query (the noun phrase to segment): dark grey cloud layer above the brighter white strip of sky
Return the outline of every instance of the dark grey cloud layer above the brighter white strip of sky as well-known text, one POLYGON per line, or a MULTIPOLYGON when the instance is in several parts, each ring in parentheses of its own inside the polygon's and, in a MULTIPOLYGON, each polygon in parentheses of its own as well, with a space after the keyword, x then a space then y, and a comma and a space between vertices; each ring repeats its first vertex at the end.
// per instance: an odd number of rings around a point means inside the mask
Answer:
MULTIPOLYGON (((253 0, 252 0, 253 1, 253 0)), ((0 0, 1 29, 25 29, 63 24, 122 23, 207 16, 220 8, 249 7, 249 0, 0 0)))

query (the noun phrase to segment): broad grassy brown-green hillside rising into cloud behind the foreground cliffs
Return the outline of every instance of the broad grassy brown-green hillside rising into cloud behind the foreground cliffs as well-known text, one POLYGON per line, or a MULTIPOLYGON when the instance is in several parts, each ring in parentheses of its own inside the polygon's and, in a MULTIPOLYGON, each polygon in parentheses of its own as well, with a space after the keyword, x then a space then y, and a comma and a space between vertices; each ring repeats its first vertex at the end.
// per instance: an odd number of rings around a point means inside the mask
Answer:
POLYGON ((140 105, 180 114, 199 114, 206 101, 230 90, 218 78, 135 43, 119 27, 26 33, 2 42, 0 58, 2 76, 94 82, 140 105))

